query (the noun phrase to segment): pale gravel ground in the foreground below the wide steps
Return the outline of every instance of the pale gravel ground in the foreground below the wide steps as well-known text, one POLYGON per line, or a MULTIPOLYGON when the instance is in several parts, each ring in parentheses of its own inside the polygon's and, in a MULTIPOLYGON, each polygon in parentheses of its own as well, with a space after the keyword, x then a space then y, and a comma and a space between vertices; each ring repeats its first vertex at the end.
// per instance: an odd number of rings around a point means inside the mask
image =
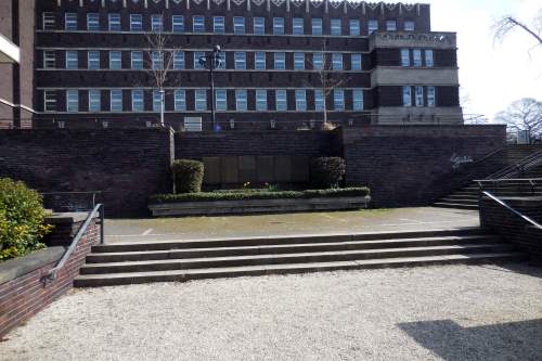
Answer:
POLYGON ((2 360, 541 360, 542 269, 447 266, 77 289, 2 360))

